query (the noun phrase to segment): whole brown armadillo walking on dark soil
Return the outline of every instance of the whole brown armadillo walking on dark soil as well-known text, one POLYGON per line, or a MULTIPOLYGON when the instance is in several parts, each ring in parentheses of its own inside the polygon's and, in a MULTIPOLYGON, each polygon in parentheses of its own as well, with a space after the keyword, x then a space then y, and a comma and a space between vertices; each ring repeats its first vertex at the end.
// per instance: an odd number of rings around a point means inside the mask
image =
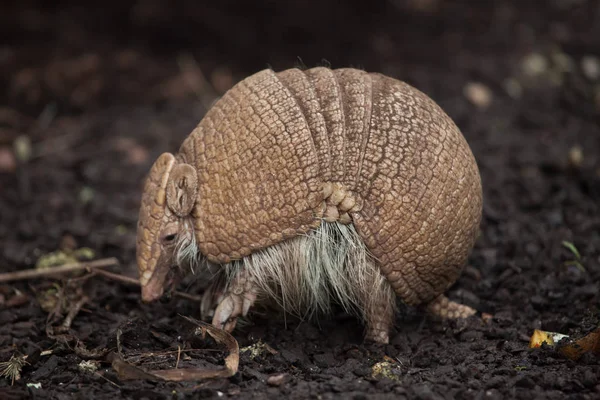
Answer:
POLYGON ((476 311, 445 292, 475 245, 477 162, 427 95, 359 69, 265 69, 220 97, 144 183, 142 299, 209 280, 203 317, 232 331, 255 303, 301 318, 342 306, 387 343, 398 303, 476 311))

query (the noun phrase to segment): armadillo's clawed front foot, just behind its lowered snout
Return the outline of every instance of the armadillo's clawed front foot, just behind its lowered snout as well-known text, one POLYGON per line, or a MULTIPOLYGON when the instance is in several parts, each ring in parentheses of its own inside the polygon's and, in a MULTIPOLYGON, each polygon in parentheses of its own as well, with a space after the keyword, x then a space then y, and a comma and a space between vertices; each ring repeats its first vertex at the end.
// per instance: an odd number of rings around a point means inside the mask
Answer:
POLYGON ((256 301, 257 290, 248 274, 240 271, 231 282, 225 292, 217 299, 217 308, 214 312, 213 326, 233 331, 237 318, 246 316, 250 307, 256 301))

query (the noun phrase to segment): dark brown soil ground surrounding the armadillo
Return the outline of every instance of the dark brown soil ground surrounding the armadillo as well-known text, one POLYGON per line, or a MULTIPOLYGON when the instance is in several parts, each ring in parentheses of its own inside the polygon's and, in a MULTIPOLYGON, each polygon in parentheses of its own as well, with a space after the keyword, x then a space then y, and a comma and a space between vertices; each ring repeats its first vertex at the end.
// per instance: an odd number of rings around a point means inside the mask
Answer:
MULTIPOLYGON (((255 315, 236 339, 276 353, 242 354, 232 378, 121 381, 106 362, 83 371, 90 355, 73 340, 47 336, 42 305, 54 304, 52 281, 0 284, 0 361, 28 355, 20 380, 0 379, 0 397, 600 398, 597 356, 571 361, 528 348, 536 328, 576 335, 598 326, 599 3, 206 3, 0 6, 3 272, 32 267, 59 248, 89 247, 96 258, 122 262, 112 271, 135 276, 144 174, 161 152, 177 149, 215 96, 267 66, 356 66, 428 93, 471 144, 484 217, 449 295, 493 318, 440 322, 405 310, 391 343, 377 346, 362 344, 360 325, 341 314, 318 325, 255 315), (26 162, 14 157, 17 138, 26 162), (565 240, 583 268, 569 262, 575 256, 565 240), (386 360, 389 376, 373 377, 386 360), (282 382, 267 383, 281 373, 282 382)), ((101 277, 79 290, 66 291, 67 304, 81 293, 89 299, 70 334, 88 350, 114 349, 120 332, 128 354, 171 352, 163 368, 174 366, 186 343, 203 350, 180 366, 222 362, 214 344, 190 339, 177 315, 197 316, 194 302, 141 304, 135 287, 101 277)))

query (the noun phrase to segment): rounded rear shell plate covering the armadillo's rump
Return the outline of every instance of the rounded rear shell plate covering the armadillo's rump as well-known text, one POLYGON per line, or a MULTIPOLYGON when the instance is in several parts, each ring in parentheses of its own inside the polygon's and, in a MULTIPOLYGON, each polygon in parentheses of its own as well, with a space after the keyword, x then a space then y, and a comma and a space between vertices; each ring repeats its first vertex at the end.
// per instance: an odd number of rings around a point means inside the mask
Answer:
POLYGON ((453 121, 406 83, 372 74, 373 113, 353 215, 396 292, 433 299, 458 277, 478 231, 482 193, 473 154, 453 121))

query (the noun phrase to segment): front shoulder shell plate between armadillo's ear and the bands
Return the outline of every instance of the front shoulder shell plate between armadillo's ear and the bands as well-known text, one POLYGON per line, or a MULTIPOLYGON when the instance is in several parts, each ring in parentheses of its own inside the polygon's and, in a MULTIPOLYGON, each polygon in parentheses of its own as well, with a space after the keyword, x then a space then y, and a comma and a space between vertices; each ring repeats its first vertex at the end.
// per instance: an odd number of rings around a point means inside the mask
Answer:
POLYGON ((322 185, 311 132, 272 71, 229 90, 182 148, 198 171, 196 236, 212 261, 237 259, 318 226, 322 185))

